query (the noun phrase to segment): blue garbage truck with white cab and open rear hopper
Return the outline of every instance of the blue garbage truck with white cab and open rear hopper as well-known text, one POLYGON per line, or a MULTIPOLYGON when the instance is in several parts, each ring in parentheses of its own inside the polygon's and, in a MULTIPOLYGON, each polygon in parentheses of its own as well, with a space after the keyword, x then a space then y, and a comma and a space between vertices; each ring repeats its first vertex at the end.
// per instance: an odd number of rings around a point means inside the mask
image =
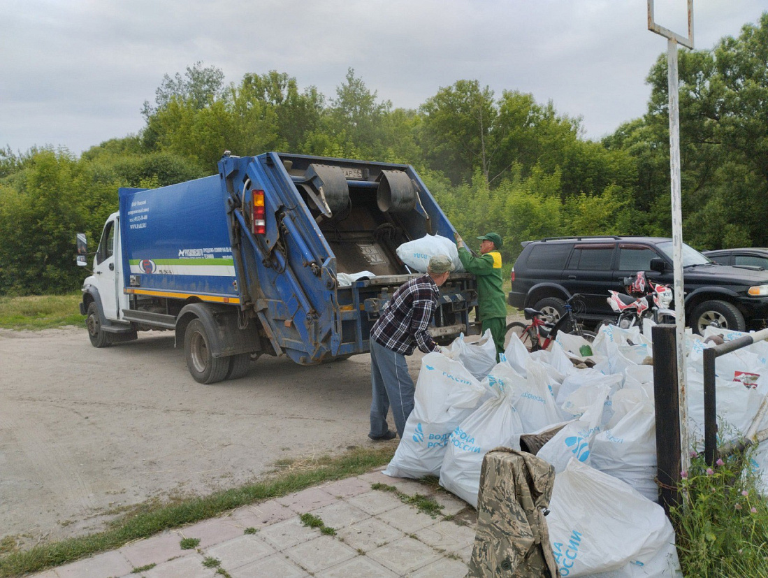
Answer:
MULTIPOLYGON (((405 164, 225 152, 213 176, 118 197, 82 287, 91 344, 174 331, 200 383, 240 378, 263 354, 313 365, 368 352, 382 308, 418 274, 396 249, 454 234, 405 164)), ((435 339, 475 333, 476 305, 473 276, 452 273, 435 339)))

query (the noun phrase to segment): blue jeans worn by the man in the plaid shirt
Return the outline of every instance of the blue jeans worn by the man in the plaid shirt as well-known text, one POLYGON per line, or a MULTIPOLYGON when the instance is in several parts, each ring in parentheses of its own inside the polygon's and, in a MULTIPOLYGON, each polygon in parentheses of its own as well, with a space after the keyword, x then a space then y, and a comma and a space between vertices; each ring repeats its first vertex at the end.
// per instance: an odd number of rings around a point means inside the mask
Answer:
POLYGON ((392 408, 397 434, 402 438, 406 421, 413 409, 413 380, 408 373, 406 356, 393 352, 373 339, 371 348, 371 435, 386 434, 386 413, 392 408))

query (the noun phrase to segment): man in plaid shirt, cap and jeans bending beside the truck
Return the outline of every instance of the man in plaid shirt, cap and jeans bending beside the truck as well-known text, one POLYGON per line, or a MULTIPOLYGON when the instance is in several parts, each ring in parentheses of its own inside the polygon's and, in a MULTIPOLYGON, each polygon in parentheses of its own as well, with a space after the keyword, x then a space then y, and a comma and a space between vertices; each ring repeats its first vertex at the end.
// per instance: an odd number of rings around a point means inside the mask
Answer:
POLYGON ((408 373, 406 355, 416 346, 422 352, 439 352, 439 345, 427 332, 432 314, 437 309, 438 289, 451 274, 453 263, 448 256, 429 259, 426 275, 399 286, 381 317, 371 329, 371 431, 374 441, 391 440, 386 414, 392 408, 397 433, 402 438, 406 420, 413 409, 413 380, 408 373))

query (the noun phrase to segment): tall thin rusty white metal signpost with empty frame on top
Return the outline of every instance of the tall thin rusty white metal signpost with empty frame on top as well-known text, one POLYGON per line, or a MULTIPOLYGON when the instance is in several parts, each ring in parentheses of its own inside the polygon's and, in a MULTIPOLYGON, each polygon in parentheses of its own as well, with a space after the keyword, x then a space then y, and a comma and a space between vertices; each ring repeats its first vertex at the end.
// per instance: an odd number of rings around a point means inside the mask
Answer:
POLYGON ((667 84, 670 114, 670 176, 672 185, 672 242, 674 247, 674 306, 677 316, 677 385, 680 401, 680 461, 690 468, 688 439, 688 399, 685 379, 685 306, 683 291, 683 212, 680 203, 680 114, 677 99, 677 45, 694 48, 694 0, 688 0, 688 37, 657 25, 654 0, 648 0, 648 30, 667 38, 667 84))

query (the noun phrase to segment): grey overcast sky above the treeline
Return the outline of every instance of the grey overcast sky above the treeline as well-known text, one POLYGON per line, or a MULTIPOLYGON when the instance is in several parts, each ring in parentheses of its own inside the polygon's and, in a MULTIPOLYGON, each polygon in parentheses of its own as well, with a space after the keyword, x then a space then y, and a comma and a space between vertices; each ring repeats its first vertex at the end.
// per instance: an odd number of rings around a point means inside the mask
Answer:
MULTIPOLYGON (((687 35, 685 6, 656 0, 657 22, 687 35)), ((696 48, 764 10, 694 0, 696 48)), ((80 154, 136 134, 163 75, 197 61, 227 83, 286 72, 327 98, 353 67, 394 107, 476 79, 551 100, 598 139, 644 114, 666 48, 647 30, 646 0, 0 0, 0 147, 80 154)))

